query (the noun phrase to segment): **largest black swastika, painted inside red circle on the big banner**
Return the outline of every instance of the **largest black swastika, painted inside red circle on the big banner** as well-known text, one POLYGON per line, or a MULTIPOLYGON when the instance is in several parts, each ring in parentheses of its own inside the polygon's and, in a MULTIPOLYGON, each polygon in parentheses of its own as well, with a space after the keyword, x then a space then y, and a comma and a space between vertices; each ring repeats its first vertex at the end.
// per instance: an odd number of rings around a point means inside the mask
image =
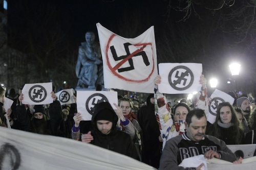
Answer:
MULTIPOLYGON (((126 57, 128 57, 129 55, 131 55, 130 53, 130 50, 129 50, 129 46, 132 45, 131 43, 129 42, 126 42, 123 44, 124 46, 124 50, 126 52, 126 55, 124 56, 117 56, 116 54, 116 50, 115 50, 115 47, 114 45, 110 46, 110 50, 111 50, 111 53, 113 55, 113 58, 115 61, 119 61, 119 60, 122 60, 122 59, 125 59, 126 57)), ((150 62, 148 61, 148 58, 147 58, 147 55, 144 51, 141 51, 137 54, 135 54, 133 57, 137 57, 137 56, 142 56, 142 59, 143 59, 143 62, 146 66, 150 65, 150 62)), ((134 69, 134 64, 133 64, 133 58, 130 58, 128 59, 128 62, 130 64, 129 67, 124 67, 124 68, 118 68, 118 72, 124 72, 124 71, 130 71, 130 70, 133 70, 134 69)))

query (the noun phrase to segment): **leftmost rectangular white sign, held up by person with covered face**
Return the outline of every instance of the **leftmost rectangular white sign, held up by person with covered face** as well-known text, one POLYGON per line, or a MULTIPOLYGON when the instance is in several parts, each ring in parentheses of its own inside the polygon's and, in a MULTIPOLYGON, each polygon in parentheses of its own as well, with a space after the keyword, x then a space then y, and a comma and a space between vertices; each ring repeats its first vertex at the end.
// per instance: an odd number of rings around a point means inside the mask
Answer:
POLYGON ((43 105, 53 103, 52 83, 25 84, 22 104, 43 105))

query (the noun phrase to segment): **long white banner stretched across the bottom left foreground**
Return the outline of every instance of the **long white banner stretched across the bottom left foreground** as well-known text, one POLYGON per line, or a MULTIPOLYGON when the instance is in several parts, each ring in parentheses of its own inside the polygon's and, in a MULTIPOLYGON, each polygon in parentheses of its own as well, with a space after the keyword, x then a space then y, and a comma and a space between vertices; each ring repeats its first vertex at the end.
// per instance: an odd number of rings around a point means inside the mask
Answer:
POLYGON ((0 127, 0 158, 1 169, 155 169, 90 143, 3 127, 0 127))

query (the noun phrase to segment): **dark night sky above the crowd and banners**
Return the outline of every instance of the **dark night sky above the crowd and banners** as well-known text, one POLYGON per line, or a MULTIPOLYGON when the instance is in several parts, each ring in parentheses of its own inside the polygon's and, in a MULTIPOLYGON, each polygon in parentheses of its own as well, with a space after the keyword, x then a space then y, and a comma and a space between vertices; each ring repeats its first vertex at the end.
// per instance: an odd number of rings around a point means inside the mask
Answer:
MULTIPOLYGON (((179 1, 170 2, 172 7, 185 7, 179 1)), ((236 1, 232 7, 227 4, 221 10, 206 9, 216 7, 209 4, 205 1, 194 4, 190 16, 182 20, 186 12, 177 11, 177 8, 170 8, 169 16, 166 15, 168 0, 9 0, 9 35, 14 37, 9 37, 10 45, 26 51, 23 45, 27 44, 28 35, 34 35, 35 43, 46 44, 45 35, 59 33, 63 35, 60 44, 68 44, 71 51, 77 52, 87 31, 93 31, 98 40, 98 22, 125 38, 135 38, 154 26, 158 63, 203 63, 203 73, 208 78, 219 76, 224 80, 231 76, 228 68, 231 61, 239 61, 242 65, 241 81, 250 81, 252 77, 245 79, 248 74, 245 68, 252 68, 252 63, 256 62, 253 45, 256 41, 248 36, 237 43, 239 35, 243 35, 236 30, 240 26, 239 21, 243 21, 242 16, 225 22, 222 16, 233 8, 240 8, 243 1, 236 1), (49 23, 46 25, 45 21, 49 23)), ((246 16, 250 15, 247 13, 246 16)), ((250 30, 249 34, 255 35, 250 30)), ((256 70, 253 68, 250 71, 256 70)))

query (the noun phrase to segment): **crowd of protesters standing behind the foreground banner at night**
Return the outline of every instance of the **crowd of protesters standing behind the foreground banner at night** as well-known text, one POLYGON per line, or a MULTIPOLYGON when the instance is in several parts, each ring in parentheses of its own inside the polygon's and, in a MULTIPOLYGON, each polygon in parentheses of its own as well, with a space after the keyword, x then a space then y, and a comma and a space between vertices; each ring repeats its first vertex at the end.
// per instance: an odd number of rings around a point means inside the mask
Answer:
POLYGON ((227 145, 256 144, 255 102, 246 95, 233 96, 234 103, 219 104, 215 123, 210 124, 207 113, 211 100, 207 97, 206 82, 202 75, 201 91, 191 103, 174 100, 172 106, 158 91, 158 75, 154 81, 155 94, 148 95, 145 105, 141 106, 137 99, 119 96, 116 108, 108 102, 96 104, 91 120, 82 120, 76 103, 61 105, 54 91, 49 106, 26 105, 22 92, 17 94, 1 85, 0 126, 7 127, 9 122, 12 129, 91 143, 157 169, 176 169, 185 158, 201 154, 206 159, 242 163, 242 156, 232 153, 227 145), (5 98, 14 101, 7 110, 3 107, 5 98))

